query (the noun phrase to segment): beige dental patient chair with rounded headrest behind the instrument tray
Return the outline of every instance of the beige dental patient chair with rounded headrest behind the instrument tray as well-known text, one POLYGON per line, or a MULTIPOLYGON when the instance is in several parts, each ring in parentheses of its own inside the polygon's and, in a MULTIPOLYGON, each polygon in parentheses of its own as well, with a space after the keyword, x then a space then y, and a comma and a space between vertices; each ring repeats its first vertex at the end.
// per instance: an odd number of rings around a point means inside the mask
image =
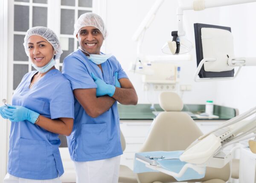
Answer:
MULTIPOLYGON (((161 93, 159 102, 164 112, 157 115, 140 152, 185 150, 202 135, 201 130, 188 114, 181 112, 183 103, 176 93, 161 93)), ((189 182, 225 183, 229 178, 230 164, 227 164, 222 169, 207 167, 204 178, 189 182)), ((160 172, 139 173, 137 180, 139 183, 177 182, 172 176, 160 172)))

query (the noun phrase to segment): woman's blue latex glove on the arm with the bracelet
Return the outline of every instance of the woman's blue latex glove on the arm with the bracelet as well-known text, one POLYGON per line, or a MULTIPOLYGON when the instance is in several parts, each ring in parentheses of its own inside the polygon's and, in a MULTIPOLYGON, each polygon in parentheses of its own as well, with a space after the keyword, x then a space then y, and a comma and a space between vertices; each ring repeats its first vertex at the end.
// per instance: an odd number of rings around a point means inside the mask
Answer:
POLYGON ((12 122, 28 120, 30 123, 33 124, 40 115, 37 112, 34 112, 23 106, 9 106, 8 108, 3 109, 3 113, 12 122))

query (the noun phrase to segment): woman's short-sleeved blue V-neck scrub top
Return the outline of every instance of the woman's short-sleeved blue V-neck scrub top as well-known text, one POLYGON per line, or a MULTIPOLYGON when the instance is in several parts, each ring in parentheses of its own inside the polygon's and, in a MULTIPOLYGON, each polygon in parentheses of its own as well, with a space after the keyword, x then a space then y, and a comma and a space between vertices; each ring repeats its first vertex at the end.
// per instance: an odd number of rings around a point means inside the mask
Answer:
MULTIPOLYGON (((70 82, 52 69, 29 89, 37 71, 27 73, 12 97, 12 105, 24 106, 44 117, 74 118, 74 97, 70 82)), ((15 177, 45 180, 64 173, 58 134, 29 121, 12 122, 7 171, 15 177)))

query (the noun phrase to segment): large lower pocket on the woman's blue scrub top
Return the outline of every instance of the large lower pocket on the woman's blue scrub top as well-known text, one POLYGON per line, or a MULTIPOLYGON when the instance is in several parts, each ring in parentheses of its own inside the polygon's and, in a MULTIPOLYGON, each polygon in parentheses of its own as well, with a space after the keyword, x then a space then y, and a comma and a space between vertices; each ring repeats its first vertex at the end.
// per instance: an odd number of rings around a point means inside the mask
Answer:
POLYGON ((44 140, 19 140, 19 168, 29 172, 42 172, 46 169, 47 155, 44 140))

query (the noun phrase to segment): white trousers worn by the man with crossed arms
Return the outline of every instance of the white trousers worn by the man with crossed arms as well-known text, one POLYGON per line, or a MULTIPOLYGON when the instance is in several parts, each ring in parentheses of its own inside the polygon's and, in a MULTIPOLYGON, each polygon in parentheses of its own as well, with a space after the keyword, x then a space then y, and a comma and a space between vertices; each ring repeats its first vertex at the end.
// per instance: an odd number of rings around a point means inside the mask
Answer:
POLYGON ((118 183, 120 156, 74 163, 76 183, 118 183))

